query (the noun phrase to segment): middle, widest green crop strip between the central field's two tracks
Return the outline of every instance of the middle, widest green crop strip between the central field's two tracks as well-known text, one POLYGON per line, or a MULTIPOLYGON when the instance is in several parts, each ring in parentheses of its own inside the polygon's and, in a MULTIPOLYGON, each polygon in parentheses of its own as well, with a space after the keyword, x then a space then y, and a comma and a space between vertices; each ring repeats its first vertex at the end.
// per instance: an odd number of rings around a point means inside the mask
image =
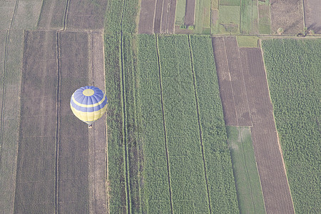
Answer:
POLYGON ((208 213, 188 36, 159 36, 165 127, 176 213, 208 213))

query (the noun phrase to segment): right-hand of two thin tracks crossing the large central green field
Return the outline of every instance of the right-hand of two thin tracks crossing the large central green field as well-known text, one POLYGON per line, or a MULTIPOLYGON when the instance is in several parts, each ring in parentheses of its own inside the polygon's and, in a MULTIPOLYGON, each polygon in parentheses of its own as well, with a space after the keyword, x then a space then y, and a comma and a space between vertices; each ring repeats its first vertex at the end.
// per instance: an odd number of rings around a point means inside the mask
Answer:
POLYGON ((202 125, 200 124, 200 111, 198 109, 198 93, 197 93, 197 88, 196 88, 196 83, 195 83, 196 82, 195 81, 195 71, 194 71, 194 66, 193 66, 193 50, 192 50, 192 46, 190 44, 190 35, 189 34, 188 34, 188 47, 190 49, 190 68, 192 68, 192 74, 193 74, 193 86, 194 86, 196 113, 198 115, 198 129, 199 129, 199 132, 200 132, 200 149, 202 151, 202 159, 203 159, 206 190, 208 192, 208 208, 210 210, 210 213, 212 213, 212 208, 210 206, 210 190, 208 188, 208 175, 207 175, 207 172, 206 172, 206 163, 205 163, 205 156, 204 156, 202 125))

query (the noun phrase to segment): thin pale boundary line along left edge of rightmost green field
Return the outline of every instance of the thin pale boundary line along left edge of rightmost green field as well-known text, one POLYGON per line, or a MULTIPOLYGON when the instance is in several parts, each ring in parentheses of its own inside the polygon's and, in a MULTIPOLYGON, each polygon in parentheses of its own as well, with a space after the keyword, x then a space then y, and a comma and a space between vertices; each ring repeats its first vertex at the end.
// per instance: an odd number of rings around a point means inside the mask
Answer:
MULTIPOLYGON (((275 133, 276 133, 276 136, 277 136, 277 146, 279 147, 279 150, 280 150, 281 159, 282 159, 282 165, 283 165, 283 169, 284 169, 284 173, 285 173, 285 178, 287 179, 287 188, 289 188, 290 198, 291 198, 291 201, 292 201, 292 208, 293 208, 293 210, 295 212, 295 206, 294 206, 294 203, 293 203, 292 192, 291 192, 291 188, 290 188, 290 184, 289 184, 289 178, 287 178, 287 169, 285 168, 283 151, 282 151, 282 147, 281 147, 281 143, 280 143, 279 133, 277 132, 277 126, 276 126, 275 115, 274 115, 274 105, 272 103, 269 81, 267 81, 267 72, 266 72, 266 68, 265 68, 265 60, 264 60, 264 55, 263 55, 262 40, 260 39, 259 41, 260 41, 260 51, 261 51, 262 60, 263 60, 263 68, 264 68, 264 71, 265 71, 264 72, 265 73, 265 81, 267 83, 267 92, 269 93, 269 98, 270 98, 270 102, 271 102, 271 105, 272 105, 272 116, 273 116, 273 122, 274 122, 274 126, 275 126, 275 133)), ((283 50, 285 50, 284 40, 283 39, 282 39, 282 46, 283 46, 283 50)), ((251 135, 252 135, 252 133, 251 133, 251 135)), ((260 183, 261 183, 261 180, 260 180, 260 183)), ((263 195, 263 199, 264 199, 264 195, 263 195)))

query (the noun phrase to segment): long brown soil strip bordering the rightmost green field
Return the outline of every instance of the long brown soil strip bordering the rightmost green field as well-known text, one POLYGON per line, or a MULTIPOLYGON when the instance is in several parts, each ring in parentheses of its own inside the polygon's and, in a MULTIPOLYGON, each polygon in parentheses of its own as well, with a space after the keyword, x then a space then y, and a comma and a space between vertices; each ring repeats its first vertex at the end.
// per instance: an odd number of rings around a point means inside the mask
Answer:
POLYGON ((267 213, 294 213, 292 198, 277 141, 277 132, 268 92, 262 52, 258 48, 240 48, 255 159, 258 163, 267 213))

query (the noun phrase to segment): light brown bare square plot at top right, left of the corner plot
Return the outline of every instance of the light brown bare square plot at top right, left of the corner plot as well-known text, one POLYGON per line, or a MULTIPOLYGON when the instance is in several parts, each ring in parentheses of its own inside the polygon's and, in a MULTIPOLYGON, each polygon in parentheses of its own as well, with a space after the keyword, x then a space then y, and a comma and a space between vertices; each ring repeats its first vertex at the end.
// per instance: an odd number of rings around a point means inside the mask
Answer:
POLYGON ((279 28, 284 29, 284 34, 299 34, 304 31, 301 0, 271 0, 270 11, 272 34, 276 34, 279 28))

